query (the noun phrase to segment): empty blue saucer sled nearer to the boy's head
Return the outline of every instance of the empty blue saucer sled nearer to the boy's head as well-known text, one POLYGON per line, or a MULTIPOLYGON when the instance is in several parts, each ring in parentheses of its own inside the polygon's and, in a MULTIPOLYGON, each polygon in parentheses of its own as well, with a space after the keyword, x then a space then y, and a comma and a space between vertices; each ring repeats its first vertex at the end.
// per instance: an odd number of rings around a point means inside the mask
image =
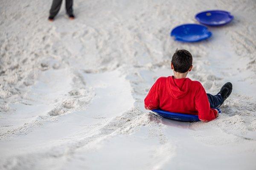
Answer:
POLYGON ((207 27, 199 24, 184 24, 175 27, 171 32, 171 37, 177 41, 198 42, 211 37, 212 33, 207 27))

